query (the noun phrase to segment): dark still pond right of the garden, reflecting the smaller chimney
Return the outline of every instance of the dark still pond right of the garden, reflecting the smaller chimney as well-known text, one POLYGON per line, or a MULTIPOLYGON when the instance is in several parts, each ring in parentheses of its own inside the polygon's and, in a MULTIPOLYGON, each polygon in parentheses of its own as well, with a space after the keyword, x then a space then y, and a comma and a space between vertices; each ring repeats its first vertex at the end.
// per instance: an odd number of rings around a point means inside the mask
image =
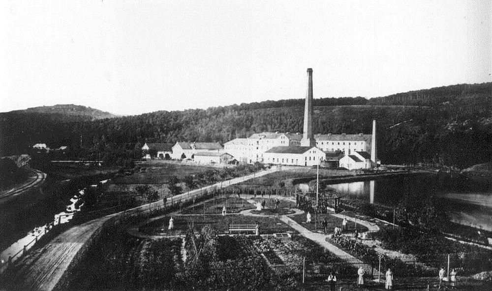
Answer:
POLYGON ((395 207, 406 197, 435 196, 452 222, 492 231, 492 184, 461 175, 416 174, 325 185, 350 199, 395 207))

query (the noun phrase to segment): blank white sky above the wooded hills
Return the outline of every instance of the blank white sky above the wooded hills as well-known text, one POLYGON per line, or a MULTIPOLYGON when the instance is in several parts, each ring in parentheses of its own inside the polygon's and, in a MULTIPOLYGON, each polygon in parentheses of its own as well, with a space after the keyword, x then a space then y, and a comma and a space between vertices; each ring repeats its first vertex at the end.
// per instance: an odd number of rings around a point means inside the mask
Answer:
POLYGON ((0 111, 116 114, 491 81, 491 1, 2 1, 0 111))

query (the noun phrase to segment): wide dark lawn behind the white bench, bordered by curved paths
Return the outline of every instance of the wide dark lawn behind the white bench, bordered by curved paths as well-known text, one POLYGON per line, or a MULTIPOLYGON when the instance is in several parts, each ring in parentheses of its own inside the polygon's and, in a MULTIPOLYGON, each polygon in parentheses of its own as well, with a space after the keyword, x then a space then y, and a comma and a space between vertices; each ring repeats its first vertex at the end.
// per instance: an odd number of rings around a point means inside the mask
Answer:
POLYGON ((218 234, 227 233, 229 230, 229 224, 258 224, 260 234, 274 234, 274 233, 293 233, 295 232, 287 224, 278 220, 275 217, 254 217, 244 215, 225 215, 211 214, 211 215, 173 215, 174 229, 168 230, 169 219, 171 216, 166 216, 161 219, 155 220, 149 224, 143 225, 139 228, 141 233, 147 235, 184 235, 190 226, 194 226, 195 229, 202 229, 204 226, 209 226, 214 229, 218 234))

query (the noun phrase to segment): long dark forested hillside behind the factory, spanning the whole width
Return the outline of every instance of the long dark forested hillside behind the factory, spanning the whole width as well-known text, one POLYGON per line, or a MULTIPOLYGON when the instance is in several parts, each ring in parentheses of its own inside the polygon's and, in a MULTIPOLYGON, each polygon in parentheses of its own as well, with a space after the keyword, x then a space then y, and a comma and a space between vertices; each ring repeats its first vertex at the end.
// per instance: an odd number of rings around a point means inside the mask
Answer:
MULTIPOLYGON (((370 133, 371 121, 376 119, 378 157, 383 163, 424 161, 465 168, 491 161, 491 83, 415 92, 439 102, 415 104, 418 98, 392 97, 399 94, 375 100, 315 99, 313 131, 370 133)), ((413 96, 410 93, 401 96, 413 96)), ((303 113, 304 99, 67 122, 49 113, 7 112, 0 113, 0 155, 25 153, 32 144, 44 142, 51 148, 68 145, 67 156, 75 158, 92 154, 114 159, 145 141, 223 143, 254 132, 302 132, 303 113)))

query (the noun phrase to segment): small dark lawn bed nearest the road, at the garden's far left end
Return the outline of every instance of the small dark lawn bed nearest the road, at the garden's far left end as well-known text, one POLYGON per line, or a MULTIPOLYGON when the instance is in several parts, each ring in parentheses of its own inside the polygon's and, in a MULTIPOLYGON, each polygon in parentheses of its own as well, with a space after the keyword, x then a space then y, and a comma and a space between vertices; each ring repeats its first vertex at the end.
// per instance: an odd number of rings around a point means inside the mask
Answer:
POLYGON ((221 214, 225 206, 227 213, 237 213, 254 208, 254 205, 237 196, 215 197, 184 209, 182 214, 221 214))

